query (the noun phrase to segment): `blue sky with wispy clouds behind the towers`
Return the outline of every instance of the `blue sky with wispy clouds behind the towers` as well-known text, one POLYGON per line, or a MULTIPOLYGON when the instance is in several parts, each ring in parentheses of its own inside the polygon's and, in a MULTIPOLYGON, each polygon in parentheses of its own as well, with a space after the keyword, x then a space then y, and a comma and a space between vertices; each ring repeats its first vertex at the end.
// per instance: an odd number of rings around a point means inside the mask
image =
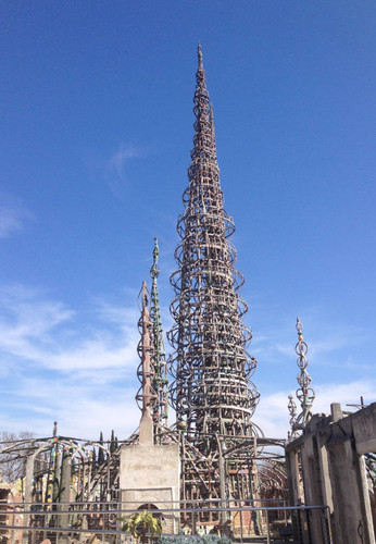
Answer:
POLYGON ((314 407, 376 399, 376 7, 0 5, 0 430, 137 425, 137 294, 160 239, 172 320, 197 44, 261 392, 285 436, 304 325, 314 407))

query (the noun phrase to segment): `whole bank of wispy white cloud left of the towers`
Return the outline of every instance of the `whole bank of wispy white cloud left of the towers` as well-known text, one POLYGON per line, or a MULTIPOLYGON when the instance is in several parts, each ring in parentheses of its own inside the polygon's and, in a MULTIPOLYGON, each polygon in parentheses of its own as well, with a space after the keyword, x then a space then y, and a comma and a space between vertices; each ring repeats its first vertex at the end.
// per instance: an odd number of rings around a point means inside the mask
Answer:
POLYGON ((21 285, 0 287, 0 429, 97 437, 138 425, 137 307, 92 302, 83 313, 21 285), (91 317, 88 325, 86 319, 91 317))

